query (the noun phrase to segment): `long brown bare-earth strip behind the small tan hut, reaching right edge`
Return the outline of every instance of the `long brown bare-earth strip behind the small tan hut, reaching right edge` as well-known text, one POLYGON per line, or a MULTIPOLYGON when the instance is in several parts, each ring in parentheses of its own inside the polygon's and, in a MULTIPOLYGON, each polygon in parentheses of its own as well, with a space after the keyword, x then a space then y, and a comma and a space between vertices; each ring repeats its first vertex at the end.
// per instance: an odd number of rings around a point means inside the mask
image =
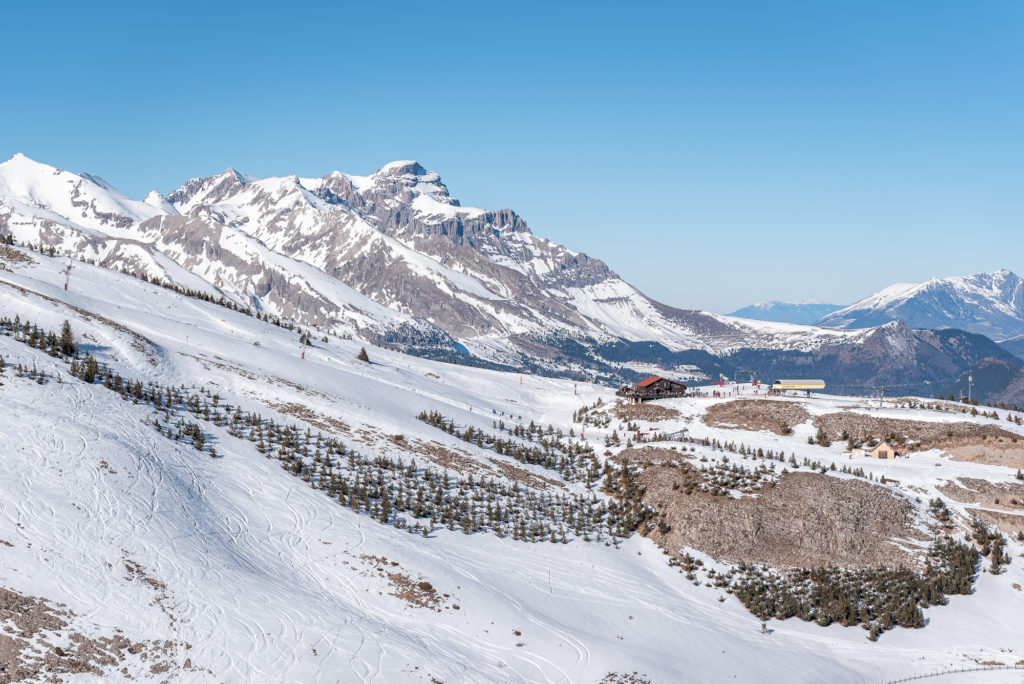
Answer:
MULTIPOLYGON (((856 438, 884 438, 895 434, 900 438, 920 442, 914 451, 940 448, 949 452, 956 458, 957 454, 973 453, 979 447, 981 452, 995 450, 1006 455, 1017 455, 1024 462, 1024 440, 1021 436, 994 425, 980 425, 967 421, 954 423, 938 423, 931 421, 913 421, 896 418, 879 418, 865 414, 844 412, 825 414, 814 417, 815 427, 824 430, 833 439, 839 439, 844 433, 856 438)), ((979 453, 977 461, 988 463, 983 453, 979 453)), ((961 458, 958 460, 969 460, 961 458)), ((1004 464, 998 464, 1004 465, 1004 464)))

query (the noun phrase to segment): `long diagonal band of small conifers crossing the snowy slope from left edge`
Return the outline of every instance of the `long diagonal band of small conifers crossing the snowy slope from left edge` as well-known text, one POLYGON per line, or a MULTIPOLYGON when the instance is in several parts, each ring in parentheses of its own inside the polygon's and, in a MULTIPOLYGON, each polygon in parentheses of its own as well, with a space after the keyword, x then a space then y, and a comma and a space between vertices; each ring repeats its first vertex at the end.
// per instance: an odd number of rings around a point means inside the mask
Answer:
MULTIPOLYGON (((14 329, 13 322, 7 319, 0 320, 0 326, 14 329)), ((60 338, 56 334, 19 320, 16 330, 19 341, 59 354, 60 338)), ((276 458, 288 472, 325 490, 340 504, 379 522, 424 536, 443 525, 465 533, 490 530, 525 542, 567 543, 573 538, 615 542, 632 535, 643 518, 642 505, 604 503, 593 494, 538 490, 498 478, 474 478, 472 474, 455 479, 446 472, 419 467, 415 461, 366 457, 348 450, 339 439, 313 435, 309 429, 302 432, 295 425, 282 425, 244 412, 239 405, 221 403, 221 397, 207 388, 124 378, 89 353, 75 352, 67 360, 71 375, 83 382, 100 384, 126 401, 152 407, 153 426, 169 439, 186 441, 216 457, 212 435, 203 427, 204 422, 212 423, 231 437, 253 442, 257 452, 276 458)), ((521 434, 540 443, 527 450, 528 459, 551 463, 551 467, 575 473, 582 480, 599 476, 593 450, 580 448, 579 443, 544 433, 536 426, 523 430, 521 434), (556 453, 557 459, 552 460, 556 453)), ((465 438, 466 433, 461 436, 465 438)), ((478 438, 480 435, 469 431, 468 440, 478 438)), ((488 441, 502 453, 523 448, 521 444, 510 445, 511 440, 488 437, 488 441)))

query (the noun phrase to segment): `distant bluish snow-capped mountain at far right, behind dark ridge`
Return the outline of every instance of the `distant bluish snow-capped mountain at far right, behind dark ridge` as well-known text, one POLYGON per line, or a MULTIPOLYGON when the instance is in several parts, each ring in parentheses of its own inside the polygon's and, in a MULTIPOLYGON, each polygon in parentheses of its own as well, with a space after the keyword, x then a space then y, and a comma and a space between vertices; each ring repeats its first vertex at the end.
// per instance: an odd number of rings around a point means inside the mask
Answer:
POLYGON ((1024 334, 1024 281, 1010 270, 892 285, 823 316, 818 325, 869 328, 901 319, 911 328, 957 328, 995 341, 1024 334))

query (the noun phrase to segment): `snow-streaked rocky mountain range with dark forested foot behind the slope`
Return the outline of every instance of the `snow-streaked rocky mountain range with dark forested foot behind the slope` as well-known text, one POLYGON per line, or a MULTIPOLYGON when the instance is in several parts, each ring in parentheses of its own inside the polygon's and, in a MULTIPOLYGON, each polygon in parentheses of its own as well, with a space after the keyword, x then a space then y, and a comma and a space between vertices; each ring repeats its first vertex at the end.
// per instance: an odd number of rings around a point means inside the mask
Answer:
POLYGON ((1006 354, 984 337, 902 324, 844 319, 844 330, 677 309, 534 234, 510 209, 462 206, 413 161, 366 176, 227 169, 134 201, 99 176, 15 155, 0 164, 4 234, 404 351, 606 382, 638 377, 639 362, 713 378, 813 373, 841 391, 884 378, 927 394, 1006 354))

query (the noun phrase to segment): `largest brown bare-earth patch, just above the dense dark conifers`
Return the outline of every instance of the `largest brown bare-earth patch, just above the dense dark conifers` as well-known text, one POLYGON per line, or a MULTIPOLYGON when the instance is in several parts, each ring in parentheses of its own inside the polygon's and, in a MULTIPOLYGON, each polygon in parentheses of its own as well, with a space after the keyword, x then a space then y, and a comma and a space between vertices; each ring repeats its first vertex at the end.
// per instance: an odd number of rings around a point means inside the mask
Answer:
POLYGON ((820 473, 784 473, 757 497, 732 499, 687 487, 688 465, 652 465, 637 475, 644 501, 665 513, 668 532, 651 537, 731 562, 773 567, 914 566, 890 540, 924 540, 909 502, 884 486, 820 473), (686 494, 689 489, 690 494, 686 494))

